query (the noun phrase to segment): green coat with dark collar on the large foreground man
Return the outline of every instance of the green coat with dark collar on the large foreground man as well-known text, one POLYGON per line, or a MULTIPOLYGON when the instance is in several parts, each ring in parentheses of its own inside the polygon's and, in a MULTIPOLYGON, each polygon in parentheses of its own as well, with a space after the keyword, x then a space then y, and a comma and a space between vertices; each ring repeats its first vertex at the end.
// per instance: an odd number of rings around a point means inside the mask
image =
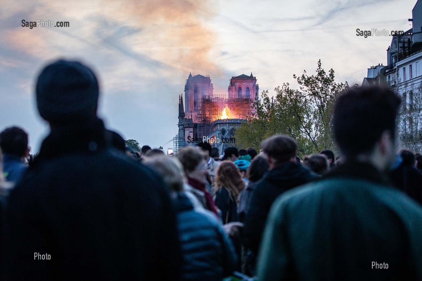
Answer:
POLYGON ((422 208, 376 168, 345 163, 277 198, 257 280, 422 280, 421 226, 422 208))

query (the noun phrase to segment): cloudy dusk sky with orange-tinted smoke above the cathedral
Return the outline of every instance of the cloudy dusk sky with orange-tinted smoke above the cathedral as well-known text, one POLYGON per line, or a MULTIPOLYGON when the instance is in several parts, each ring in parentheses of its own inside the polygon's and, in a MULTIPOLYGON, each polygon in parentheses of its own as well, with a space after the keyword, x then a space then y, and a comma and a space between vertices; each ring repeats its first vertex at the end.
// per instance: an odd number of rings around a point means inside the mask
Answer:
POLYGON ((91 67, 100 81, 106 127, 142 145, 173 147, 178 100, 189 76, 209 75, 214 94, 232 76, 252 72, 260 92, 293 74, 335 71, 337 82, 361 84, 372 65, 387 63, 390 36, 356 29, 408 30, 416 0, 1 0, 0 130, 29 134, 39 151, 48 125, 38 114, 35 83, 58 58, 91 67), (22 27, 69 22, 69 27, 22 27), (167 144, 165 144, 167 143, 167 144))

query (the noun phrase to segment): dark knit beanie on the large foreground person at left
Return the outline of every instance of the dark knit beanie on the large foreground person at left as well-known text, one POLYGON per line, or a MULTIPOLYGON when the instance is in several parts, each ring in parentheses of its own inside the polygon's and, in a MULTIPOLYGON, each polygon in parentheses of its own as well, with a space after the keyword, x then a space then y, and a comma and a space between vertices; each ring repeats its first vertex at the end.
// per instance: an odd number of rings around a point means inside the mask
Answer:
POLYGON ((98 105, 98 81, 80 62, 58 60, 46 66, 37 81, 41 117, 51 123, 92 119, 98 105))

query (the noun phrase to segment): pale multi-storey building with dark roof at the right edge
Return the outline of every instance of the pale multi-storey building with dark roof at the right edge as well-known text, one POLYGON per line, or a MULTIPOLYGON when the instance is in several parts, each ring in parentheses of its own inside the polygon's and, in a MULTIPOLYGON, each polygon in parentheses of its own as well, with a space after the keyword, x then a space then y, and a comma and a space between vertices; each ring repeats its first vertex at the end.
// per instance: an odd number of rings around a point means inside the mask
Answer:
POLYGON ((397 121, 403 147, 422 152, 422 0, 412 10, 412 28, 393 35, 387 65, 368 68, 362 85, 383 84, 402 98, 397 121))

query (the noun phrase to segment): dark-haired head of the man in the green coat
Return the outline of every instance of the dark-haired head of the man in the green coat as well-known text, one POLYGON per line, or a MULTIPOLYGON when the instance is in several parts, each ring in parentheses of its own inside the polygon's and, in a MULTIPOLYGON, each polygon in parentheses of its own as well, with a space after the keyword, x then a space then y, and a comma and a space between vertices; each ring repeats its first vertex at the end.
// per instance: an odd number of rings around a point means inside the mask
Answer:
POLYGON ((400 97, 380 86, 353 87, 335 101, 333 135, 347 159, 389 168, 395 159, 400 97))

